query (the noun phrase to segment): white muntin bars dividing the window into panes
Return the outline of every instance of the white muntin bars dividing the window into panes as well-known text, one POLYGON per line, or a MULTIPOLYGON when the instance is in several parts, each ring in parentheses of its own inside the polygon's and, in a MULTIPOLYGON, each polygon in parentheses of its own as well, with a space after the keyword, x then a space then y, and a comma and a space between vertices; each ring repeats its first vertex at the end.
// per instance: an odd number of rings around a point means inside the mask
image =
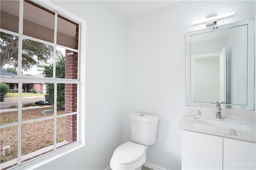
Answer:
MULTIPOLYGON (((34 3, 34 2, 33 2, 34 3)), ((55 14, 55 21, 54 21, 54 42, 47 42, 45 40, 40 40, 38 38, 34 38, 34 37, 30 37, 27 35, 22 34, 23 33, 23 5, 24 2, 23 0, 20 1, 20 8, 19 8, 19 13, 20 13, 20 18, 19 18, 19 34, 17 34, 16 32, 12 32, 10 30, 4 30, 1 29, 1 32, 7 33, 7 34, 11 34, 13 36, 17 36, 19 38, 19 49, 18 49, 18 76, 6 76, 6 75, 1 75, 1 81, 16 81, 18 82, 17 86, 18 89, 22 89, 22 82, 38 82, 38 81, 43 81, 45 83, 54 83, 54 86, 57 87, 57 83, 70 83, 70 84, 74 84, 77 86, 77 98, 79 99, 79 87, 80 87, 80 81, 79 81, 79 64, 77 64, 77 76, 73 78, 57 78, 56 77, 56 49, 58 47, 60 48, 64 48, 66 50, 70 50, 70 51, 74 51, 74 53, 77 53, 78 55, 78 63, 79 63, 79 45, 77 45, 78 47, 76 47, 76 49, 74 48, 70 48, 70 47, 66 47, 63 45, 58 45, 56 43, 56 36, 57 36, 57 16, 58 13, 54 12, 55 14), (28 40, 32 40, 35 42, 39 42, 39 43, 45 43, 48 45, 52 45, 54 46, 54 59, 53 59, 53 76, 52 78, 38 78, 38 77, 26 77, 22 75, 22 39, 28 39, 28 40)), ((63 15, 62 15, 63 16, 63 15)), ((80 24, 79 25, 79 29, 80 29, 80 24)), ((79 34, 78 34, 78 38, 80 38, 80 30, 79 30, 79 34)), ((29 87, 26 87, 27 89, 29 87)), ((55 88, 57 89, 57 88, 55 88)), ((56 95, 56 90, 54 89, 54 100, 56 100, 57 95, 56 95)), ((0 128, 6 128, 6 127, 12 127, 12 126, 17 126, 18 127, 18 155, 17 155, 17 164, 20 165, 23 162, 22 159, 22 154, 21 154, 21 148, 22 148, 22 141, 21 141, 21 134, 22 134, 22 126, 28 123, 35 123, 38 121, 46 121, 46 120, 50 120, 53 119, 54 120, 54 144, 53 144, 53 150, 56 150, 58 148, 57 146, 57 134, 56 134, 56 121, 57 119, 60 119, 61 117, 66 117, 66 116, 70 116, 70 115, 76 115, 77 117, 77 121, 79 120, 79 102, 77 103, 77 111, 75 112, 71 112, 71 113, 65 113, 62 115, 57 115, 57 109, 56 109, 56 102, 54 102, 54 115, 53 116, 49 116, 49 117, 43 117, 43 118, 37 118, 37 119, 30 119, 30 120, 22 120, 22 90, 19 90, 19 103, 18 103, 18 122, 14 122, 14 123, 9 123, 9 124, 5 124, 5 125, 0 125, 0 128)), ((77 134, 78 135, 78 134, 77 134)), ((79 138, 78 138, 79 141, 79 138)))

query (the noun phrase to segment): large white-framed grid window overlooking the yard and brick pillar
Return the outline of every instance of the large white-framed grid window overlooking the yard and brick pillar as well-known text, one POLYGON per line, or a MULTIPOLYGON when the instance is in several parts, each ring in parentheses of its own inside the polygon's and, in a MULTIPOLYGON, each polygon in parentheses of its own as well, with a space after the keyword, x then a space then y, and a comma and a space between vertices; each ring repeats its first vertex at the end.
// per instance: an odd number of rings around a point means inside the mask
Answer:
POLYGON ((1 58, 1 68, 14 68, 18 75, 0 75, 1 83, 13 82, 10 89, 14 84, 18 89, 18 109, 0 114, 0 147, 11 146, 7 156, 1 150, 0 167, 4 169, 49 152, 62 152, 59 148, 84 140, 79 127, 84 111, 80 71, 84 68, 80 69, 79 22, 31 1, 0 1, 0 5, 1 53, 9 50, 11 54, 1 58), (27 95, 39 96, 44 106, 24 105, 27 95))

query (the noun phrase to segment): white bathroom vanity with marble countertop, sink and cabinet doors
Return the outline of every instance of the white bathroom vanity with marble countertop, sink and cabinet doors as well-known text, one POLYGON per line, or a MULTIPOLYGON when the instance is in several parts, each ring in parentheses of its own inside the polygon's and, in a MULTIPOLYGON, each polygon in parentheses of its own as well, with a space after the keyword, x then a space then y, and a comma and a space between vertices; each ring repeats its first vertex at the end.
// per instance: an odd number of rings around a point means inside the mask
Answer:
POLYGON ((253 121, 184 116, 182 169, 256 169, 256 136, 253 121))

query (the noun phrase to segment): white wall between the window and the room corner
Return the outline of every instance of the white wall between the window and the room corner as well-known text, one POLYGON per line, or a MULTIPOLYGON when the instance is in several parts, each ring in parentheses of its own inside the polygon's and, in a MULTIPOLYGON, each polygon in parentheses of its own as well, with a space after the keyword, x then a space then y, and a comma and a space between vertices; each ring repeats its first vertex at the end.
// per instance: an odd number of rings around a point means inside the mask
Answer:
POLYGON ((105 169, 123 141, 125 21, 100 1, 52 2, 87 23, 85 146, 38 169, 105 169))

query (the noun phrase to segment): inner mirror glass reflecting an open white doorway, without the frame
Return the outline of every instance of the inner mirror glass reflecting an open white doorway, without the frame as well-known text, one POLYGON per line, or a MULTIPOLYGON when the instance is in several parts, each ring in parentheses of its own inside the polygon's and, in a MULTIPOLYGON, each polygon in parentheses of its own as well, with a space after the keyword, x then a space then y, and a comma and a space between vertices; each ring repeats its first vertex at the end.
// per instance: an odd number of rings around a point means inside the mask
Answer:
POLYGON ((191 101, 247 104, 247 25, 190 36, 190 54, 191 101))

